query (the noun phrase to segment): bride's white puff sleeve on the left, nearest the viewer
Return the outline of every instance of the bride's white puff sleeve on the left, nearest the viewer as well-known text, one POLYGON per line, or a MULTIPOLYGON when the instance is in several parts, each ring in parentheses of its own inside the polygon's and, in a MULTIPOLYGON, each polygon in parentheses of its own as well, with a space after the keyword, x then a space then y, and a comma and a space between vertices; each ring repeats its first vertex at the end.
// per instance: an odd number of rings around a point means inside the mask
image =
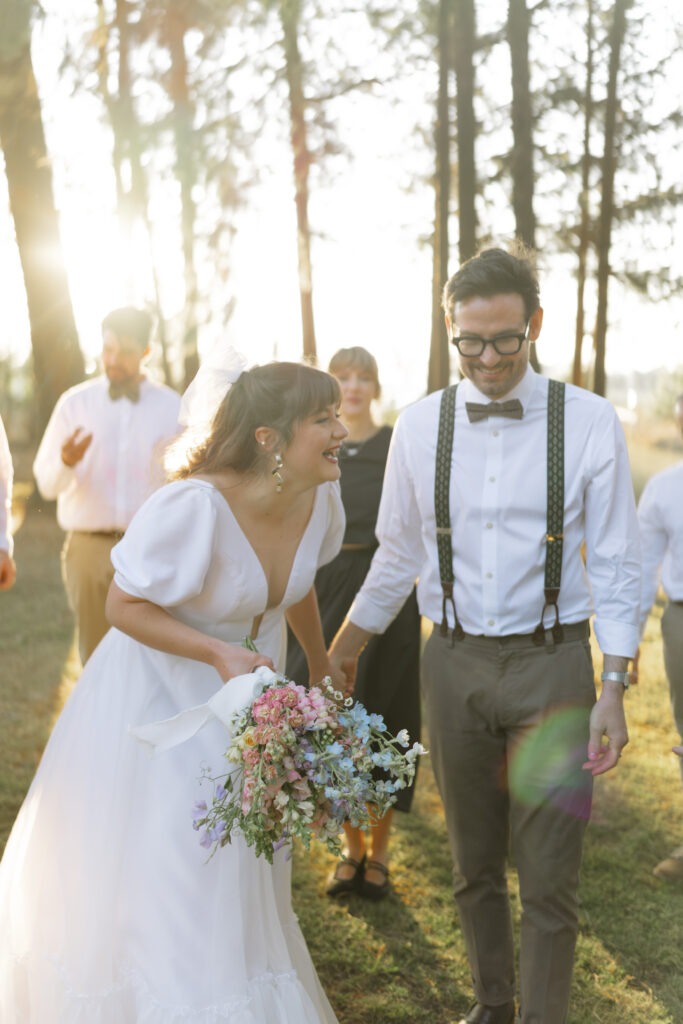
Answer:
POLYGON ((170 608, 197 597, 214 553, 216 508, 185 481, 156 490, 112 551, 121 590, 170 608))

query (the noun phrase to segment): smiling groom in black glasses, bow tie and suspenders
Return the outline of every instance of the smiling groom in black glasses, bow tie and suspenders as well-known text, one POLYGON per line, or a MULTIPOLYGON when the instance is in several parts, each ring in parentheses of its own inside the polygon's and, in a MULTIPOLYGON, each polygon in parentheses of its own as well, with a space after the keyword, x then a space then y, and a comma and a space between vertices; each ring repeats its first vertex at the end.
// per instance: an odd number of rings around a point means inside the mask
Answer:
POLYGON ((429 746, 476 1000, 461 1024, 515 1020, 510 841, 521 897, 516 1019, 564 1024, 593 776, 628 741, 640 593, 629 462, 607 401, 551 389, 529 366, 543 309, 528 251, 488 249, 466 262, 445 286, 444 309, 465 378, 455 413, 446 389, 399 417, 380 546, 331 653, 352 678, 353 658, 418 579, 434 625, 422 680, 429 746), (453 430, 450 444, 437 445, 441 428, 453 430))

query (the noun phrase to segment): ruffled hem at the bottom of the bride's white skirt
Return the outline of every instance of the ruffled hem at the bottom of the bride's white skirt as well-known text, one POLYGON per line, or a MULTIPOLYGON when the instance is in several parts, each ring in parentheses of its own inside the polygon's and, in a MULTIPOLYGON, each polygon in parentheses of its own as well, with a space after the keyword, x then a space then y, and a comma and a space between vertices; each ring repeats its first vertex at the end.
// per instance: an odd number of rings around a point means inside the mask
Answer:
MULTIPOLYGON (((34 966, 35 967, 35 966, 34 966)), ((0 996, 4 1024, 335 1024, 334 1014, 316 1008, 296 971, 263 973, 244 985, 244 994, 211 1006, 171 1005, 157 997, 139 973, 129 970, 99 992, 83 993, 70 985, 56 966, 37 992, 26 993, 26 962, 16 965, 14 998, 0 996)), ((29 969, 29 973, 33 972, 29 969)), ((35 981, 35 975, 33 975, 35 981)), ((8 993, 5 993, 7 995, 8 993)), ((321 992, 325 1001, 325 996, 321 992)))

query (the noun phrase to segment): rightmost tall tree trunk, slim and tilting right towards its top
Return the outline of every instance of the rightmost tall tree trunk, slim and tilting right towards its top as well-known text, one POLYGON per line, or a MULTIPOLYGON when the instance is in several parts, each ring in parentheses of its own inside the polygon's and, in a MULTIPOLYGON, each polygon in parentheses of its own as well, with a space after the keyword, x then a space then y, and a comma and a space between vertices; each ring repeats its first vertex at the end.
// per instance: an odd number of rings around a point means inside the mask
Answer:
POLYGON ((600 216, 598 220, 597 313, 595 321, 595 379, 593 389, 604 395, 606 390, 605 348, 607 336, 607 296, 609 289, 609 250, 614 219, 614 174, 620 147, 617 115, 620 111, 617 80, 622 62, 622 47, 627 29, 627 11, 632 0, 614 0, 609 33, 609 74, 605 105, 604 148, 601 164, 600 216))

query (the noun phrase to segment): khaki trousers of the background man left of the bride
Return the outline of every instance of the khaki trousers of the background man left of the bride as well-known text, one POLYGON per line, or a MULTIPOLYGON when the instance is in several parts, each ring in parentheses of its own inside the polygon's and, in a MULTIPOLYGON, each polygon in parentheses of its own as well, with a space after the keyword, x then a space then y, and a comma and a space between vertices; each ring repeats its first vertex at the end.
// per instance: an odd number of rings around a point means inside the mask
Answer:
POLYGON ((104 602, 114 579, 112 548, 122 534, 67 534, 61 550, 61 578, 76 616, 78 649, 85 665, 110 629, 104 602))

